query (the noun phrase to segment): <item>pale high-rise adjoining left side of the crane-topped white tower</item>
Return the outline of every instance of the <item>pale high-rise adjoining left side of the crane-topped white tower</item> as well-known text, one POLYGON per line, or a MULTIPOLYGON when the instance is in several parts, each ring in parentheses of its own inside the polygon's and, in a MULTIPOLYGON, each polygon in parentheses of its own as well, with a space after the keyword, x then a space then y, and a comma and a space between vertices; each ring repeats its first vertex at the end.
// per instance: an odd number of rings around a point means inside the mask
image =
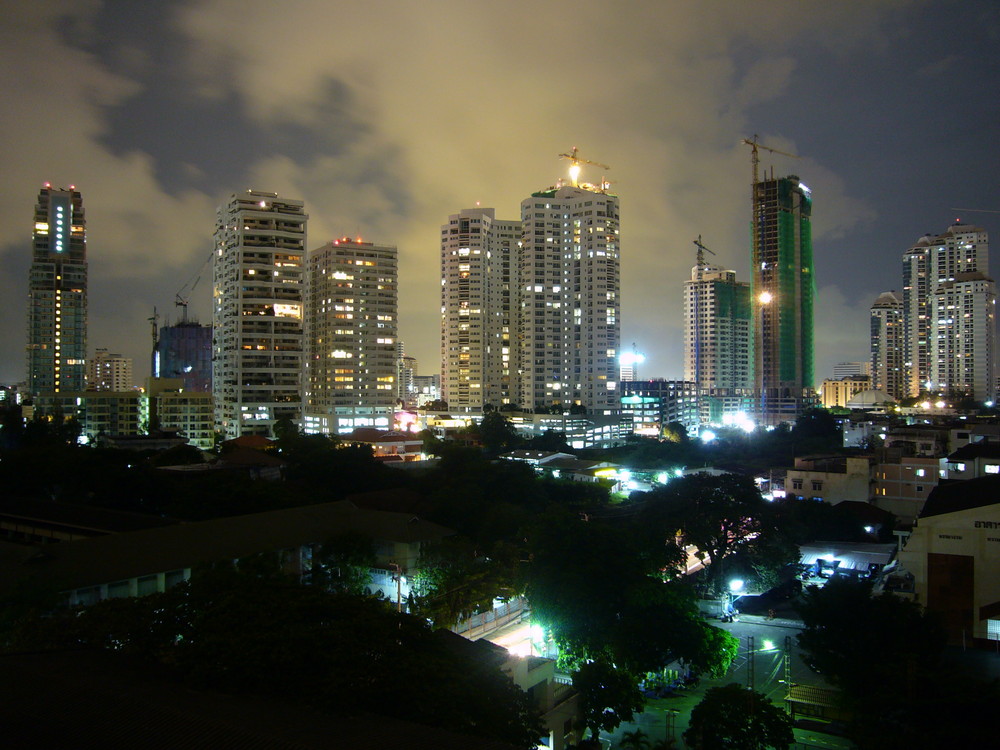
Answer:
POLYGON ((464 209, 441 227, 441 390, 448 408, 518 403, 521 222, 464 209))

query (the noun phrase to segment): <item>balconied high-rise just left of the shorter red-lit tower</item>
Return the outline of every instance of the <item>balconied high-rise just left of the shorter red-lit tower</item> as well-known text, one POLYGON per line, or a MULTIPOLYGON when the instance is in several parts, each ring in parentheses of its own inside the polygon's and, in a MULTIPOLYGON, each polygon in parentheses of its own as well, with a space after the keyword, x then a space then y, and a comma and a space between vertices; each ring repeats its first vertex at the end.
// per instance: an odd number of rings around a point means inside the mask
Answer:
POLYGON ((301 422, 307 218, 302 201, 254 190, 217 212, 212 383, 225 439, 301 422))

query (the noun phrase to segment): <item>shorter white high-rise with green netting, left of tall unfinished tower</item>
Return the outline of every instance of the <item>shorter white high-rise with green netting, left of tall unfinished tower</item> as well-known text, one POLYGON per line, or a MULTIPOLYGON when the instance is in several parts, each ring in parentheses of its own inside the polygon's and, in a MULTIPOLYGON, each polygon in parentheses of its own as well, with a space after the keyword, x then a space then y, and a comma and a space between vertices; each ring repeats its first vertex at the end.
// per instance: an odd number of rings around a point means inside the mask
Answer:
POLYGON ((698 264, 684 282, 684 380, 706 393, 753 388, 750 284, 698 264))

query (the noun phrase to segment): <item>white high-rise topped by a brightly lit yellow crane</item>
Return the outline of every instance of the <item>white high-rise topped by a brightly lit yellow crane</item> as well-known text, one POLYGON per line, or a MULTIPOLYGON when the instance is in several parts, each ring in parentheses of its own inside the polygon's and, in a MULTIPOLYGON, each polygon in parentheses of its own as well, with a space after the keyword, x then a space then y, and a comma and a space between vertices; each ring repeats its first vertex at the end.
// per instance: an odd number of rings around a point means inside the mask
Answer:
POLYGON ((618 198, 606 183, 573 183, 521 202, 519 403, 614 414, 620 408, 618 198))

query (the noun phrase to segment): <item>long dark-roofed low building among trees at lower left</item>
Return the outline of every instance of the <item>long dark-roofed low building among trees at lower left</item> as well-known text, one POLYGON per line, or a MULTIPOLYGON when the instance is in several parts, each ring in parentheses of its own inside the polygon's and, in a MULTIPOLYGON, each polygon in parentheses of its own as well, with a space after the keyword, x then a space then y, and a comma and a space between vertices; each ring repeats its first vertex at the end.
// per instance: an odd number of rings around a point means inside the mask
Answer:
POLYGON ((273 555, 285 572, 307 578, 314 554, 345 533, 371 539, 371 592, 405 605, 425 544, 454 533, 407 513, 340 501, 24 547, 0 561, 0 598, 18 586, 59 592, 70 605, 164 591, 207 563, 239 564, 273 555))

